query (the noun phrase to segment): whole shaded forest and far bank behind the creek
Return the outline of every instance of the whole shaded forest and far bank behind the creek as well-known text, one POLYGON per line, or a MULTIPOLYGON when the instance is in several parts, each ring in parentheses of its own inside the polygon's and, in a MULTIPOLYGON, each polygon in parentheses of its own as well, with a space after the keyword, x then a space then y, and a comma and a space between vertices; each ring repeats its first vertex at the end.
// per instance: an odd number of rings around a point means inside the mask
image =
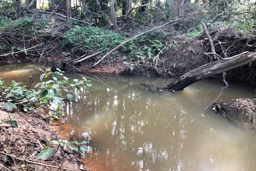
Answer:
MULTIPOLYGON (((214 60, 204 55, 211 48, 201 21, 222 58, 256 50, 250 0, 0 0, 0 10, 1 63, 58 61, 66 71, 178 77, 214 60)), ((255 84, 254 66, 228 71, 227 80, 255 84)))

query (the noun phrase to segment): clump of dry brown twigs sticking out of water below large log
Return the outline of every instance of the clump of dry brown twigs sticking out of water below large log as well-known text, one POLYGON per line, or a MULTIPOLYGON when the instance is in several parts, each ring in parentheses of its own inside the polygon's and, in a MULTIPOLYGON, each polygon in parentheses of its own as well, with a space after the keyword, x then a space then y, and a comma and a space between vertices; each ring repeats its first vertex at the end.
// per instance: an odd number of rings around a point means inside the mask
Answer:
POLYGON ((222 113, 226 116, 225 111, 230 112, 231 114, 236 114, 236 116, 240 116, 245 119, 250 119, 250 122, 256 125, 255 115, 256 115, 256 106, 254 105, 254 101, 256 99, 232 99, 225 100, 217 103, 214 106, 214 110, 216 112, 222 113))

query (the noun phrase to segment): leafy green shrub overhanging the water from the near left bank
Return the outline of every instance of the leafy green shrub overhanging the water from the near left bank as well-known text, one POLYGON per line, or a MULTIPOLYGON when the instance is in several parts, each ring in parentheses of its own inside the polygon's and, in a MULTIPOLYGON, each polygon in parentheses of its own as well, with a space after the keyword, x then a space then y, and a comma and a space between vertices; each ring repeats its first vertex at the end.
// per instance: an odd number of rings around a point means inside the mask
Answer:
POLYGON ((4 82, 0 79, 0 92, 4 95, 4 101, 0 103, 0 107, 4 107, 7 112, 13 107, 33 114, 37 113, 40 107, 56 104, 54 110, 57 112, 49 116, 49 118, 56 119, 63 116, 59 108, 64 97, 72 101, 73 98, 78 96, 74 91, 75 89, 80 90, 80 86, 84 88, 91 86, 90 81, 84 77, 82 77, 82 80, 73 79, 73 83, 70 83, 69 79, 63 75, 64 71, 59 69, 54 73, 51 72, 50 68, 45 71, 40 68, 37 69, 44 72, 40 76, 42 82, 35 85, 35 88, 39 90, 28 90, 26 89, 27 86, 19 86, 22 83, 16 83, 15 81, 12 81, 10 87, 5 87, 4 82), (50 77, 52 79, 49 80, 50 77), (48 81, 43 81, 43 79, 48 79, 48 81))

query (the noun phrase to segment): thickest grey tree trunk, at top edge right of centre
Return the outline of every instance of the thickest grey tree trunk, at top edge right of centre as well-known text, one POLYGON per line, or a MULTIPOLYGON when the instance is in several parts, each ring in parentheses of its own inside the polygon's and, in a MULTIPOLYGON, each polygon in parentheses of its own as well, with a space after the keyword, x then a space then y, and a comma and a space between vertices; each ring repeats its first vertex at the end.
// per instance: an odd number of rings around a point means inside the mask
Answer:
POLYGON ((179 15, 183 15, 184 10, 185 10, 184 0, 173 0, 169 19, 178 17, 179 15))

